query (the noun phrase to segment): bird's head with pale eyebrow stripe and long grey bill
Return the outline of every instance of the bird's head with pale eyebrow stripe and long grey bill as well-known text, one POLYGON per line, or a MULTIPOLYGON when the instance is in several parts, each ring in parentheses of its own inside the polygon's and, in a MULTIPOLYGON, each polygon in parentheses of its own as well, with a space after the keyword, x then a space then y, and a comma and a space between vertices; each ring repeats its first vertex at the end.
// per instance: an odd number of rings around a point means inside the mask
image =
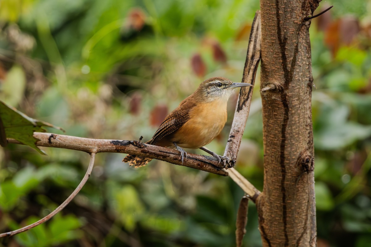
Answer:
POLYGON ((203 81, 198 86, 197 93, 203 99, 213 100, 228 100, 236 87, 251 87, 250 83, 236 83, 223 77, 213 77, 203 81))

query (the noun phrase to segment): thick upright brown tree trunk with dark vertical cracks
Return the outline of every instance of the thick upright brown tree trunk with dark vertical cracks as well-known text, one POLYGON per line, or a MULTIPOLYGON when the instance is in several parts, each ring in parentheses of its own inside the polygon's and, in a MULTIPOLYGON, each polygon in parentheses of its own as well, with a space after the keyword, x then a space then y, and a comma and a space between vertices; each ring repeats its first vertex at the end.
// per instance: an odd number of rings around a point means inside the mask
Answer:
POLYGON ((257 199, 263 246, 316 246, 312 66, 316 0, 261 0, 264 187, 257 199))

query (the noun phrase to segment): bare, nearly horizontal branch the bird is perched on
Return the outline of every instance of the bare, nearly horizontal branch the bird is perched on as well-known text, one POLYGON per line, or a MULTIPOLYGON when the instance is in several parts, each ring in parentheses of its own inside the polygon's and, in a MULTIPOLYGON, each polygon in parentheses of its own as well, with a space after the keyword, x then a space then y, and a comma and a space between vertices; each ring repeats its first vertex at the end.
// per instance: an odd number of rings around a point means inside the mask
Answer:
MULTIPOLYGON (((182 166, 179 151, 166 147, 144 144, 139 141, 91 139, 41 132, 34 132, 33 136, 39 139, 39 141, 36 142, 36 146, 67 148, 84 151, 86 153, 92 153, 93 150, 96 150, 96 153, 129 153, 182 166)), ((9 143, 22 144, 13 139, 9 139, 9 143)), ((215 157, 188 153, 188 157, 184 159, 183 166, 228 176, 228 173, 220 167, 219 161, 215 157)))

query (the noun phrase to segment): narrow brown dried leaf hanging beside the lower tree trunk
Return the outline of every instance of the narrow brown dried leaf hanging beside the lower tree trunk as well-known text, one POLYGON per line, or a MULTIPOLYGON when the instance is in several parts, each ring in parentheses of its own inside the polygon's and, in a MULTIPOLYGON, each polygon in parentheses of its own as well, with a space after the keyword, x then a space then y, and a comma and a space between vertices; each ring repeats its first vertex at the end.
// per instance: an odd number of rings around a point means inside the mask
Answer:
POLYGON ((236 246, 242 246, 243 236, 246 233, 246 223, 247 223, 247 210, 249 208, 249 198, 243 196, 240 201, 240 206, 237 211, 236 220, 236 246))

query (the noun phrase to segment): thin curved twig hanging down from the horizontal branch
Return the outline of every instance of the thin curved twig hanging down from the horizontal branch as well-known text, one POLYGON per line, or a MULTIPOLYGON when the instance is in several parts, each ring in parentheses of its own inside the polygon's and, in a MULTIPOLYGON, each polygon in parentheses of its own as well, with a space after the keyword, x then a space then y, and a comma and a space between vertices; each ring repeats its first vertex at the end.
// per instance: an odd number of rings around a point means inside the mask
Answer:
POLYGON ((88 166, 88 170, 86 171, 85 176, 82 178, 80 184, 72 192, 72 194, 70 194, 70 196, 65 201, 63 201, 62 204, 59 205, 59 207, 57 207, 55 210, 52 211, 52 213, 48 214, 47 216, 45 216, 41 220, 38 220, 35 223, 32 223, 28 226, 19 228, 19 229, 14 230, 14 231, 9 231, 7 233, 1 233, 0 237, 10 237, 10 236, 13 236, 15 234, 22 233, 24 231, 30 230, 31 228, 33 228, 35 226, 39 226, 40 224, 46 222, 47 220, 49 220, 50 218, 55 216, 57 213, 59 213, 64 207, 66 207, 67 204, 70 203, 70 201, 72 201, 73 198, 75 198, 75 196, 79 193, 79 191, 82 189, 82 187, 85 185, 86 181, 90 177, 90 174, 91 174, 93 166, 94 166, 95 153, 96 152, 92 152, 90 154, 90 163, 89 163, 89 166, 88 166))

